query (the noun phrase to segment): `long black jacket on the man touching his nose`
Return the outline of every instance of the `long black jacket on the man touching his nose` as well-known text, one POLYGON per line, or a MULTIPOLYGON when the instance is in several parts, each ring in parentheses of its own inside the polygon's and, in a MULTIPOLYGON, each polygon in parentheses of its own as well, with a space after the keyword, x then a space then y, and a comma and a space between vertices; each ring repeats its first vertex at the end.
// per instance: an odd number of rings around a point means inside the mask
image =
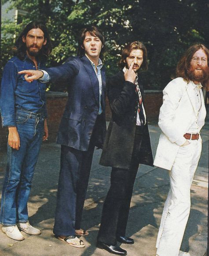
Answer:
MULTIPOLYGON (((141 86, 140 91, 143 98, 143 88, 141 86)), ((125 81, 124 73, 120 71, 117 75, 108 79, 107 94, 112 111, 112 120, 107 129, 100 164, 129 169, 133 153, 139 101, 136 85, 125 81)), ((147 123, 144 126, 140 156, 139 163, 153 166, 147 123)))

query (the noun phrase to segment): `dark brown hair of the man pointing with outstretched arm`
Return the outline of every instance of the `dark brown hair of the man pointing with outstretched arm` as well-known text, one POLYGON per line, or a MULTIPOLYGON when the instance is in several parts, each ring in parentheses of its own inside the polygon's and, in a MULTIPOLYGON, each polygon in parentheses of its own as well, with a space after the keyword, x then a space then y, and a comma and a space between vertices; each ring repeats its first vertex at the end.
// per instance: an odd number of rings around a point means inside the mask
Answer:
POLYGON ((84 56, 85 49, 84 49, 84 39, 86 37, 86 33, 89 32, 93 37, 98 37, 102 42, 102 49, 100 52, 99 57, 101 58, 104 53, 105 49, 105 40, 102 31, 96 26, 87 26, 80 30, 79 37, 78 37, 78 50, 77 56, 84 56))

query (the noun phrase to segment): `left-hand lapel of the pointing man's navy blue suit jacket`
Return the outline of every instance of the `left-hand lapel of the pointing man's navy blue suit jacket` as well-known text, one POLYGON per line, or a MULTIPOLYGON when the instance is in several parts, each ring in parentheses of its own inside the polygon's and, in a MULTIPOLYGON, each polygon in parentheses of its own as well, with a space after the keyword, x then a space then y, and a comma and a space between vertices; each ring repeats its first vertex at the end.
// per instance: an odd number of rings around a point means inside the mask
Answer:
POLYGON ((94 92, 96 102, 98 102, 98 105, 99 105, 99 81, 97 79, 94 68, 92 67, 90 60, 88 60, 86 56, 82 56, 81 61, 83 62, 84 68, 89 75, 89 78, 92 83, 92 90, 94 92))

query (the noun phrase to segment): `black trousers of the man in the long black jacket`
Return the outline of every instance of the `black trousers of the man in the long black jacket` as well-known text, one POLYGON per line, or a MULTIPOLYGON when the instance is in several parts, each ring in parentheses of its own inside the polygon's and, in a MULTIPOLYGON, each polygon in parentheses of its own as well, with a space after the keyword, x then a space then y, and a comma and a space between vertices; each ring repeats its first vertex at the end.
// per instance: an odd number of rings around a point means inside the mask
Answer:
POLYGON ((103 205, 97 237, 99 242, 116 245, 117 237, 125 236, 142 139, 143 127, 137 126, 130 168, 112 168, 110 189, 103 205))

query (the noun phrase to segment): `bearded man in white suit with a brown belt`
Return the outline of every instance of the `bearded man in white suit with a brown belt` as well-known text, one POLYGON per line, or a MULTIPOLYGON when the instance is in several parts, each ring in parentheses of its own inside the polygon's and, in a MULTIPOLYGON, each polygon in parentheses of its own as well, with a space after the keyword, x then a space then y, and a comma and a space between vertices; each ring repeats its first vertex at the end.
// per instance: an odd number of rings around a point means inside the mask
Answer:
POLYGON ((170 190, 157 239, 157 256, 190 255, 180 251, 190 213, 190 188, 202 151, 200 130, 205 123, 201 82, 207 77, 209 50, 192 45, 163 90, 159 127, 161 136, 154 165, 169 170, 170 190))

